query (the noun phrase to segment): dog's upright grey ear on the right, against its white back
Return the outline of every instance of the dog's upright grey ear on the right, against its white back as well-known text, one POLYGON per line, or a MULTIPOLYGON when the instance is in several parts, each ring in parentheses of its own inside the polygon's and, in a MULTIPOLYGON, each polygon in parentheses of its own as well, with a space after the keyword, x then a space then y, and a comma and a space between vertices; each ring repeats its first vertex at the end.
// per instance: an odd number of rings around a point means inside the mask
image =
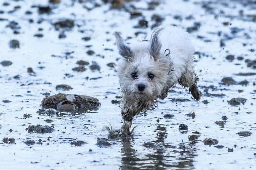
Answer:
POLYGON ((154 58, 154 60, 157 60, 157 57, 160 53, 160 49, 162 47, 161 42, 159 41, 159 33, 163 30, 164 28, 159 28, 156 31, 154 31, 151 35, 150 39, 150 54, 154 58))

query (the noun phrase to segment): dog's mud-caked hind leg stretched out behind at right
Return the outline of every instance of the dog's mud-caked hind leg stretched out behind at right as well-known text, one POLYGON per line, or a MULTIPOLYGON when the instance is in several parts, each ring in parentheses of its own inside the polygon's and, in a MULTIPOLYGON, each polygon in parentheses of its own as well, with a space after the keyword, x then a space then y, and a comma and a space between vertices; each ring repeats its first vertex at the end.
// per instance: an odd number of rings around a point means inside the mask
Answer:
POLYGON ((196 86, 197 81, 198 81, 198 78, 196 77, 196 73, 192 66, 190 68, 188 67, 185 74, 182 74, 182 76, 179 79, 180 85, 184 87, 189 87, 189 92, 191 93, 191 95, 196 100, 200 100, 202 96, 202 92, 199 91, 196 86))

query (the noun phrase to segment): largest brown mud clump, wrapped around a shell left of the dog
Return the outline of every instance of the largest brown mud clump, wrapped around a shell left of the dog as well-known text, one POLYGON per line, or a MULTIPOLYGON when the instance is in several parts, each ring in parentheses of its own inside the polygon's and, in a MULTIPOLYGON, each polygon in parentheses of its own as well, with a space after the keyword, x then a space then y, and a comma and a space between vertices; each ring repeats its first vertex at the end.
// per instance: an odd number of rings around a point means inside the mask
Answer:
MULTIPOLYGON (((43 109, 58 109, 57 105, 62 102, 63 104, 73 103, 78 109, 83 111, 88 110, 97 110, 100 106, 99 99, 90 97, 90 96, 83 96, 83 95, 67 95, 63 93, 59 93, 57 95, 44 97, 42 101, 42 108, 43 109), (63 103, 66 102, 66 103, 63 103)), ((60 104, 59 104, 60 106, 60 104)))

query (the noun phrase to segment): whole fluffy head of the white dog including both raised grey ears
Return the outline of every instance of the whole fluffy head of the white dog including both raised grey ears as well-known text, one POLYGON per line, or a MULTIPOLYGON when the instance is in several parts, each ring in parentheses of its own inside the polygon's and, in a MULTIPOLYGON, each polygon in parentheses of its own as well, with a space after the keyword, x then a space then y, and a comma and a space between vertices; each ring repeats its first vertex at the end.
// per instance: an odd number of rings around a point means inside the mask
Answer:
POLYGON ((124 40, 115 33, 116 43, 123 59, 118 63, 118 77, 121 89, 134 100, 155 100, 167 81, 170 65, 167 60, 157 56, 161 43, 158 35, 161 29, 153 33, 148 51, 134 52, 124 44, 124 40))

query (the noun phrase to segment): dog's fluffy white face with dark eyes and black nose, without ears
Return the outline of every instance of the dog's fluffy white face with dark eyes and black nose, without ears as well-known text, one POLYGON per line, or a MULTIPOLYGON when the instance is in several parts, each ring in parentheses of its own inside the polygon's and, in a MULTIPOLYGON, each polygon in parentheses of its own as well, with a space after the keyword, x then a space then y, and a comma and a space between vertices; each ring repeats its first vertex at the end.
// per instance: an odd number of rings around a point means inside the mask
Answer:
POLYGON ((134 100, 155 100, 167 81, 168 64, 150 53, 138 53, 118 63, 122 91, 134 100))

